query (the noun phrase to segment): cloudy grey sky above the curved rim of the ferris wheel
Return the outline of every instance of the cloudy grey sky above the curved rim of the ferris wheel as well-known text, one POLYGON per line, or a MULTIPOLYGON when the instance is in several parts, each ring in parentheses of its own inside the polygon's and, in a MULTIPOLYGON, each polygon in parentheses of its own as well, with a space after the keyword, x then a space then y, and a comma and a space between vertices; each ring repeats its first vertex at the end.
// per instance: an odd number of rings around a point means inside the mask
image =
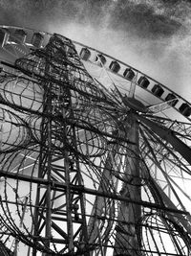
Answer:
POLYGON ((68 36, 191 101, 188 0, 0 0, 0 24, 68 36))

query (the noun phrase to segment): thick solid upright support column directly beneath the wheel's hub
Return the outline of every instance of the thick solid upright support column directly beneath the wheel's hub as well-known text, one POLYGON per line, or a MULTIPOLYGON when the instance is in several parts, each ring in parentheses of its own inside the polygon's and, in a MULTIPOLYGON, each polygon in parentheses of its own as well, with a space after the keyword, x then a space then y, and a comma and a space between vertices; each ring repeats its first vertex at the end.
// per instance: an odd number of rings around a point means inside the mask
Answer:
MULTIPOLYGON (((138 159, 138 123, 133 115, 128 118, 130 125, 128 137, 135 145, 129 145, 125 156, 124 182, 120 194, 124 198, 140 201, 139 159, 138 159)), ((140 218, 141 206, 121 201, 118 205, 116 243, 114 256, 138 255, 136 224, 140 218)))

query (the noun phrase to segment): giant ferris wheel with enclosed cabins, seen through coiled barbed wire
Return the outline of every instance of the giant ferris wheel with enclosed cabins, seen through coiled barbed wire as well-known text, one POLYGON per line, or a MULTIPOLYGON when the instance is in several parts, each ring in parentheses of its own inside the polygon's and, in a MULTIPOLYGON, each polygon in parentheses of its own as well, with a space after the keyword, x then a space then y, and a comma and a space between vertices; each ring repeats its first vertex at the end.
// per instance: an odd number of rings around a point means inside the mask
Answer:
POLYGON ((63 35, 0 44, 3 255, 190 255, 191 104, 63 35))

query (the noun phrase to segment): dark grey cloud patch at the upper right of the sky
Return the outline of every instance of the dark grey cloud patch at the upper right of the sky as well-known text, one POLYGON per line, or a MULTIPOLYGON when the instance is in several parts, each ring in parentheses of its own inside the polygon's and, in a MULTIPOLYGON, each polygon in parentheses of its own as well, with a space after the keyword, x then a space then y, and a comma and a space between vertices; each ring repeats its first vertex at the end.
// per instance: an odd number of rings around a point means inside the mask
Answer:
POLYGON ((108 27, 141 38, 159 38, 174 35, 182 24, 147 1, 120 1, 110 13, 108 27))

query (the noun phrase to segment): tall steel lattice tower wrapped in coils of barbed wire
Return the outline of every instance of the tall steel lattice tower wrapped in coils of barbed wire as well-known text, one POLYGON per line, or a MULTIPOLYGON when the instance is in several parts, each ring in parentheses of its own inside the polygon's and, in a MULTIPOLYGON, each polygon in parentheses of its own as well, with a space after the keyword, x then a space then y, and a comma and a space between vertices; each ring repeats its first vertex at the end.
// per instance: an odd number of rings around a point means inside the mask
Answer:
POLYGON ((85 250, 84 255, 89 256, 84 195, 74 191, 74 186, 82 186, 75 128, 68 122, 74 118, 69 85, 72 73, 77 72, 76 56, 69 39, 53 35, 45 49, 36 50, 15 63, 44 90, 38 178, 46 180, 47 185, 37 184, 32 216, 35 241, 32 255, 41 247, 43 256, 52 255, 54 250, 71 255, 77 250, 85 250), (59 184, 59 189, 54 182, 59 184))

